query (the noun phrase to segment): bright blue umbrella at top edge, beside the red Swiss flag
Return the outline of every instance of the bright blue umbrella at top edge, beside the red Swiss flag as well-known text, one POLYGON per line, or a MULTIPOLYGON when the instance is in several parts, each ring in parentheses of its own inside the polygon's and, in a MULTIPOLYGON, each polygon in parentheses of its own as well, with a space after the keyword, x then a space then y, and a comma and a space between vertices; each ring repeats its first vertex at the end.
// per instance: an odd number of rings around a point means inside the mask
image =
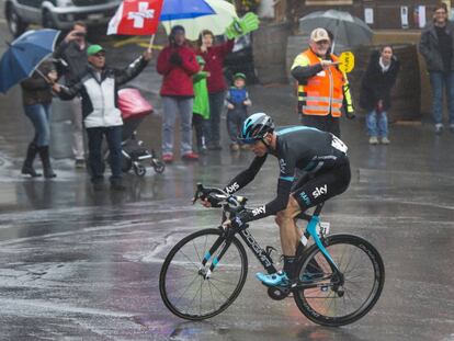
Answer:
POLYGON ((204 0, 163 0, 159 21, 190 19, 215 14, 204 0))

